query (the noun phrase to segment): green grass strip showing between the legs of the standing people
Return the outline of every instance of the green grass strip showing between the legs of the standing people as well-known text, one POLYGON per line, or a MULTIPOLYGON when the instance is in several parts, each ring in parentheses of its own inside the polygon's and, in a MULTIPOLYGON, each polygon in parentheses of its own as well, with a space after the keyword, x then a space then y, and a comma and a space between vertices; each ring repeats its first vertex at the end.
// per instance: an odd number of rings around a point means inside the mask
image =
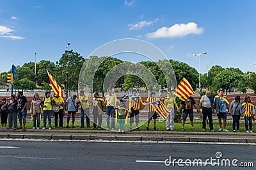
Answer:
MULTIPOLYGON (((86 125, 86 122, 84 122, 85 125, 86 125)), ((157 131, 166 131, 166 127, 165 127, 165 124, 166 124, 166 121, 156 121, 156 127, 157 127, 157 131)), ((75 121, 75 128, 71 128, 72 126, 72 118, 70 120, 70 123, 69 123, 69 127, 70 128, 65 128, 67 125, 67 121, 63 121, 63 128, 54 128, 54 121, 52 121, 52 130, 54 129, 60 129, 60 130, 67 130, 67 129, 75 129, 75 130, 91 130, 92 127, 93 127, 93 122, 91 121, 90 122, 90 127, 91 128, 80 128, 81 124, 80 124, 80 121, 79 121, 79 118, 76 118, 76 121, 75 121)), ((103 128, 106 128, 106 120, 102 120, 102 127, 103 128)), ((8 127, 8 125, 7 125, 8 127)), ((19 122, 18 122, 18 127, 19 127, 19 122)), ((48 127, 48 121, 47 121, 47 127, 48 127)), ((115 123, 115 130, 118 130, 118 123, 115 123)), ((124 125, 124 128, 125 130, 129 130, 129 120, 127 122, 127 124, 124 125)), ((132 127, 135 128, 135 123, 132 123, 132 127)), ((139 124, 139 127, 140 127, 140 130, 145 130, 146 127, 147 127, 147 121, 140 121, 140 124, 139 124)), ((152 131, 153 130, 153 120, 150 121, 150 126, 149 126, 149 130, 152 131)), ((196 131, 199 131, 199 132, 202 132, 202 120, 194 120, 194 127, 196 129, 196 131)), ((218 129, 220 128, 219 125, 218 125, 218 120, 213 120, 213 127, 214 127, 214 131, 218 132, 218 129)), ((32 122, 27 122, 26 123, 26 128, 33 128, 33 123, 32 122)), ((43 121, 41 121, 40 123, 40 128, 42 129, 43 128, 43 121)), ((181 132, 182 128, 182 124, 181 123, 175 123, 174 125, 174 130, 173 131, 176 131, 176 132, 181 132)), ((186 124, 185 124, 185 131, 186 132, 192 132, 193 130, 191 129, 191 123, 189 120, 186 121, 186 124)), ((226 126, 227 130, 229 130, 229 132, 233 132, 233 128, 232 128, 232 120, 227 120, 227 126, 226 126)), ((104 129, 101 129, 101 130, 104 130, 104 129)), ((252 130, 254 132, 256 132, 256 122, 253 121, 253 128, 252 130)), ((206 132, 209 132, 209 124, 206 125, 206 132)), ((244 120, 240 120, 240 132, 246 132, 245 130, 245 127, 244 127, 244 120)))

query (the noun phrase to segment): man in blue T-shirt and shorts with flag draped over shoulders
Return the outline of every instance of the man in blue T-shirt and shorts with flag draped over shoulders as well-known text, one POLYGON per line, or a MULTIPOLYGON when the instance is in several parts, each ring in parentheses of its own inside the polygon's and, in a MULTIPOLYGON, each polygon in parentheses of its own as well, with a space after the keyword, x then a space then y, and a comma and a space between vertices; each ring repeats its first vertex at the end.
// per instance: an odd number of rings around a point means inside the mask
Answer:
POLYGON ((226 129, 226 124, 227 124, 227 109, 229 110, 228 107, 228 99, 225 95, 223 95, 223 91, 219 90, 219 94, 216 95, 216 97, 214 97, 214 103, 212 107, 215 107, 215 111, 217 113, 218 116, 218 120, 219 120, 219 126, 220 129, 218 131, 224 131, 224 132, 228 132, 228 130, 226 129), (221 119, 223 119, 223 129, 222 129, 222 125, 221 125, 221 119))

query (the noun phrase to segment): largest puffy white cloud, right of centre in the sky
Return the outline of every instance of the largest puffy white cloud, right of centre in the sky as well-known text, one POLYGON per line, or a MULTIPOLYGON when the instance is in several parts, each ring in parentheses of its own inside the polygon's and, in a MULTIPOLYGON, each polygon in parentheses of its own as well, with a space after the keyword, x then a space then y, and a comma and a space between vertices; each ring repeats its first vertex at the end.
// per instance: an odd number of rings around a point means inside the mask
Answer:
POLYGON ((175 38, 186 35, 200 35, 204 31, 203 27, 197 27, 195 22, 188 22, 187 24, 175 24, 171 27, 161 27, 156 32, 147 33, 147 38, 175 38))

